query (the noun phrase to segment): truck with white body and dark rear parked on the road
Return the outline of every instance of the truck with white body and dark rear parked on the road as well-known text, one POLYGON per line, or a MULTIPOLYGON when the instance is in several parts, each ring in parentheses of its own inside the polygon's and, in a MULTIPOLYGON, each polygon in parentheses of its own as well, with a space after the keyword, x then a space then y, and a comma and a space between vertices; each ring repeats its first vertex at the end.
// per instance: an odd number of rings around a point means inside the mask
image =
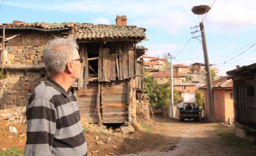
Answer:
POLYGON ((179 104, 179 121, 184 121, 184 119, 194 119, 194 121, 199 121, 200 109, 195 104, 195 93, 194 92, 184 92, 184 100, 179 104))

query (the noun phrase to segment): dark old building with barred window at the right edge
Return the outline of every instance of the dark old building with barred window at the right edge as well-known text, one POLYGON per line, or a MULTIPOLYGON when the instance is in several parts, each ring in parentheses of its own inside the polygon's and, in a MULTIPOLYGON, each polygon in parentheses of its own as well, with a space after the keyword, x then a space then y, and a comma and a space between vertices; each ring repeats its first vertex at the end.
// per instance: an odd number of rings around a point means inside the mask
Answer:
POLYGON ((233 80, 234 132, 256 142, 256 63, 227 71, 233 80))

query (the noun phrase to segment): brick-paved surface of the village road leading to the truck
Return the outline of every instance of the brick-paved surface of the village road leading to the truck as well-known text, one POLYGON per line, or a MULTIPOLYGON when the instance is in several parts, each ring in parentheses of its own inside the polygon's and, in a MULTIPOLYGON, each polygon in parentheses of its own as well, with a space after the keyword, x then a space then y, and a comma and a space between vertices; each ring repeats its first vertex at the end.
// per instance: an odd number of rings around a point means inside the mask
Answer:
MULTIPOLYGON (((176 143, 173 151, 146 151, 122 156, 246 156, 248 154, 241 153, 236 148, 228 146, 216 132, 212 123, 177 123, 176 128, 180 128, 181 141, 176 143), (188 125, 182 125, 188 124, 188 125), (200 132, 200 133, 199 133, 200 132)), ((165 124, 167 128, 174 128, 174 125, 165 124), (172 126, 172 127, 168 127, 172 126)), ((167 134, 168 135, 168 134, 167 134)), ((172 135, 172 134, 170 134, 172 135)), ((251 154, 250 155, 254 155, 251 154)), ((256 153, 255 153, 256 155, 256 153)))

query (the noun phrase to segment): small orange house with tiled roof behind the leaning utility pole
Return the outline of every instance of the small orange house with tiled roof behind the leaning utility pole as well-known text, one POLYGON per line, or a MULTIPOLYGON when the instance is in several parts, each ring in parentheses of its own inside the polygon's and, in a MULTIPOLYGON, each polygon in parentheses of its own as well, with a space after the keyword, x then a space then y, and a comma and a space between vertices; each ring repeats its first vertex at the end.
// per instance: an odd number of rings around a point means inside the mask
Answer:
MULTIPOLYGON (((222 121, 232 124, 234 120, 233 109, 233 81, 228 80, 230 76, 223 77, 212 82, 212 90, 214 94, 214 109, 216 121, 222 121)), ((204 117, 210 120, 210 105, 208 103, 207 85, 200 87, 204 94, 204 117)))

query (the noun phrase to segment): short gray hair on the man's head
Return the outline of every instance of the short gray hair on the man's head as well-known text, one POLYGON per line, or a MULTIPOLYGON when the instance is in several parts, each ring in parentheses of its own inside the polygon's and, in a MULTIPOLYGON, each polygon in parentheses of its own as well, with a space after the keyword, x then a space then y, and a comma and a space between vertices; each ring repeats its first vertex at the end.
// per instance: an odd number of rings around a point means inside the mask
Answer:
POLYGON ((67 62, 77 59, 78 45, 74 38, 55 38, 44 48, 45 69, 48 73, 64 72, 67 62))

